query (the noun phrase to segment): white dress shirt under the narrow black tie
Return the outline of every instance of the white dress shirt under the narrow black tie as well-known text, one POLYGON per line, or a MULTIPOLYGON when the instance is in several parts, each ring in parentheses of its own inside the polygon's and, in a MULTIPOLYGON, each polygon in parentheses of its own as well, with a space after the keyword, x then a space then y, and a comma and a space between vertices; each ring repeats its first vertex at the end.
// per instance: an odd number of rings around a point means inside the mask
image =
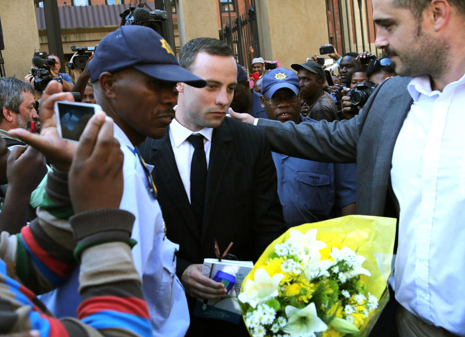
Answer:
POLYGON ((213 128, 202 128, 199 131, 191 131, 185 128, 174 118, 170 124, 170 141, 171 147, 174 152, 174 159, 178 166, 179 175, 183 181, 184 188, 186 189, 187 198, 190 202, 190 165, 192 162, 192 155, 194 154, 194 146, 189 143, 187 137, 191 134, 200 133, 203 138, 203 148, 205 150, 205 157, 208 163, 210 161, 210 147, 212 144, 213 128))

